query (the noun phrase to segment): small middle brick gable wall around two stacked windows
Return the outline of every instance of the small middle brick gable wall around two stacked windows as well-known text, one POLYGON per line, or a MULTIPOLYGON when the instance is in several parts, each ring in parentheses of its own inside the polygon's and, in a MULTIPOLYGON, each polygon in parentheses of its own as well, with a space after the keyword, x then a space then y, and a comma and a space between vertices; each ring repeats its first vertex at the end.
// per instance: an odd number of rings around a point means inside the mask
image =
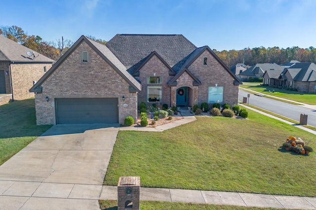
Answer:
MULTIPOLYGON (((142 91, 138 94, 138 102, 145 102, 147 105, 158 104, 158 102, 148 102, 147 86, 162 86, 162 104, 170 106, 171 88, 167 81, 173 76, 169 75, 169 69, 154 55, 141 69, 138 79, 142 82, 142 91), (162 76, 162 84, 147 84, 147 76, 162 76)), ((137 77, 136 77, 137 78, 137 77)))

